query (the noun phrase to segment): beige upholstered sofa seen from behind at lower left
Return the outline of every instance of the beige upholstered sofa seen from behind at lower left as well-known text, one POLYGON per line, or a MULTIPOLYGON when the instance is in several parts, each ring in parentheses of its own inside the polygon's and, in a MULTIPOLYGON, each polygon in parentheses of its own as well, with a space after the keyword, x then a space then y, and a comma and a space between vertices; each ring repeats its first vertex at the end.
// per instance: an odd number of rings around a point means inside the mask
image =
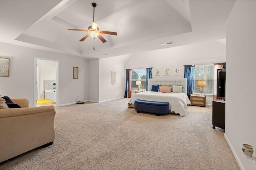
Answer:
POLYGON ((22 108, 0 109, 0 162, 52 145, 55 138, 54 106, 29 107, 27 99, 11 100, 22 108))

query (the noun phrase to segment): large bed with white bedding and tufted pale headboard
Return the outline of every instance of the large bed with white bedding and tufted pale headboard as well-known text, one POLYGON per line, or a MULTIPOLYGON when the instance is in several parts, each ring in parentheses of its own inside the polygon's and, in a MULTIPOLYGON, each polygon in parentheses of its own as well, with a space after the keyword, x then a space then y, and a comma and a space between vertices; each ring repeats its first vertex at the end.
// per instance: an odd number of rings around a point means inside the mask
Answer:
POLYGON ((187 79, 186 78, 154 78, 148 79, 148 91, 134 94, 128 101, 128 107, 134 107, 134 101, 136 99, 149 100, 155 102, 169 102, 169 112, 176 113, 180 116, 185 116, 185 109, 190 105, 190 100, 187 93, 187 79), (183 86, 181 93, 162 93, 162 92, 151 92, 152 85, 161 86, 183 86))

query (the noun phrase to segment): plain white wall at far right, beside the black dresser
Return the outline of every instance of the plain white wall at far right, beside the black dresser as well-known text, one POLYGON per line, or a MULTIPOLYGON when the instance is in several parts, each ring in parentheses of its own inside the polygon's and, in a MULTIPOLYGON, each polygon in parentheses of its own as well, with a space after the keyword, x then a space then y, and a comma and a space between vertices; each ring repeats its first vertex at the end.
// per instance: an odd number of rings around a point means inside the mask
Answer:
POLYGON ((256 161, 242 152, 243 143, 252 145, 256 152, 255 9, 255 0, 236 0, 226 23, 225 137, 245 170, 256 170, 256 161))

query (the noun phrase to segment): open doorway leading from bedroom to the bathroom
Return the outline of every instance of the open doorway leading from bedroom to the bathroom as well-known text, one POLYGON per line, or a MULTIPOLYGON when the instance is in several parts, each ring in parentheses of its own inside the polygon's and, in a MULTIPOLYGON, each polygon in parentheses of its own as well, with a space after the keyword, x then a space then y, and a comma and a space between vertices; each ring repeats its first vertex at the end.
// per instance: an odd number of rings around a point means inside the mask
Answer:
POLYGON ((35 57, 34 107, 59 105, 59 61, 35 57))

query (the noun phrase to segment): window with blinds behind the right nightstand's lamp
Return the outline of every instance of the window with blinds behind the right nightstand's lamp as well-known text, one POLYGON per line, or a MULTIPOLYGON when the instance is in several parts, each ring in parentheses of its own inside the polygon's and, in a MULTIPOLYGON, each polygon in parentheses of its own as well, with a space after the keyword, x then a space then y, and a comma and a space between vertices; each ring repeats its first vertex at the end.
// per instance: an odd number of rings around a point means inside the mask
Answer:
POLYGON ((203 94, 213 94, 213 75, 214 65, 195 65, 194 72, 194 91, 193 93, 200 94, 200 87, 197 86, 198 81, 206 81, 206 87, 203 87, 203 94))

